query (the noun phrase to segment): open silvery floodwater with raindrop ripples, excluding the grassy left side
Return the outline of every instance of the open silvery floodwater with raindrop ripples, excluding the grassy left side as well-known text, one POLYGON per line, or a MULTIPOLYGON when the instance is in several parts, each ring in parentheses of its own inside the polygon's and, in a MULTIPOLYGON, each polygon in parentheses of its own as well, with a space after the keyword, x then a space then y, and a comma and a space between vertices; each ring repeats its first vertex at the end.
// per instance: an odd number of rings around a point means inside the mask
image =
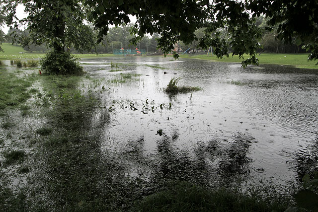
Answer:
POLYGON ((81 63, 110 82, 100 94, 110 117, 101 148, 119 158, 126 176, 284 184, 317 169, 318 71, 161 57, 81 63), (111 62, 120 71, 110 72, 111 62), (111 83, 120 73, 140 75, 111 83), (168 95, 172 77, 203 90, 168 95))

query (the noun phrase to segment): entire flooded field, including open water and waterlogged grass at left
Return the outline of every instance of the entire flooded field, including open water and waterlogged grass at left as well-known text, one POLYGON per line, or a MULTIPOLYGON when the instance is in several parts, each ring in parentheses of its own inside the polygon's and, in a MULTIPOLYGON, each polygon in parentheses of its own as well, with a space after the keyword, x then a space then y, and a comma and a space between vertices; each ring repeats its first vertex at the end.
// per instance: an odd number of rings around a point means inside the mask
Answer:
POLYGON ((0 200, 125 211, 167 181, 279 187, 317 170, 316 70, 162 57, 80 63, 86 74, 65 77, 6 62, 1 80, 15 84, 5 89, 25 83, 25 97, 0 102, 0 200), (168 94, 173 77, 202 89, 168 94))

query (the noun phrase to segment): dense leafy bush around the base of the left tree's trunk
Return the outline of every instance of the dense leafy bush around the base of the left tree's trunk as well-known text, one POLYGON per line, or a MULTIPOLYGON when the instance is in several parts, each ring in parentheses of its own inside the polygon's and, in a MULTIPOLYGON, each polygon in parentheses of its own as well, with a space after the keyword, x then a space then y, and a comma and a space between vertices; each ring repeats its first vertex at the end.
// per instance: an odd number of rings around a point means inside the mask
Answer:
POLYGON ((76 62, 76 58, 69 52, 50 51, 40 61, 43 72, 49 74, 82 73, 83 68, 76 62))

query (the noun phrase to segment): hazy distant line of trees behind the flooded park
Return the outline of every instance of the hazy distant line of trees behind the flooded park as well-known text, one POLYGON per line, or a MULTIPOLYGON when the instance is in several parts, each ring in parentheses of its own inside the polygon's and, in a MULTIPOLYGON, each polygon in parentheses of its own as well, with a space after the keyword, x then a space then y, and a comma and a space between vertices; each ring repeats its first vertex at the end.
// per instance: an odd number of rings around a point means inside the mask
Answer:
MULTIPOLYGON (((265 17, 259 18, 259 25, 265 25, 265 17)), ((134 45, 130 42, 131 39, 134 38, 133 35, 130 33, 132 24, 113 27, 110 28, 107 35, 103 36, 103 41, 100 42, 94 49, 91 51, 83 51, 83 53, 112 53, 115 49, 145 49, 148 50, 149 53, 160 52, 157 49, 158 41, 157 38, 160 37, 158 33, 154 33, 153 36, 144 36, 137 45, 134 45)), ((226 29, 220 29, 221 33, 226 33, 226 29)), ((29 34, 28 30, 21 30, 21 29, 10 29, 7 34, 2 36, 2 42, 12 43, 14 45, 20 45, 23 43, 23 38, 29 34)), ((197 29, 195 31, 195 35, 198 38, 202 38, 204 36, 204 28, 197 29)), ((263 34, 262 40, 260 44, 263 48, 260 48, 258 52, 263 53, 306 53, 306 50, 301 48, 301 45, 297 45, 296 41, 292 41, 292 44, 285 44, 283 41, 277 39, 277 33, 275 30, 267 31, 263 34)), ((177 48, 178 52, 184 52, 185 50, 189 49, 188 53, 198 53, 200 51, 204 51, 199 46, 199 41, 192 41, 190 44, 184 44, 182 41, 177 41, 177 48)), ((25 51, 29 52, 47 52, 50 48, 47 47, 45 43, 41 45, 36 45, 30 43, 29 45, 23 48, 25 51)), ((71 47, 71 52, 78 53, 78 51, 71 47)), ((231 51, 231 48, 230 48, 231 51)))

